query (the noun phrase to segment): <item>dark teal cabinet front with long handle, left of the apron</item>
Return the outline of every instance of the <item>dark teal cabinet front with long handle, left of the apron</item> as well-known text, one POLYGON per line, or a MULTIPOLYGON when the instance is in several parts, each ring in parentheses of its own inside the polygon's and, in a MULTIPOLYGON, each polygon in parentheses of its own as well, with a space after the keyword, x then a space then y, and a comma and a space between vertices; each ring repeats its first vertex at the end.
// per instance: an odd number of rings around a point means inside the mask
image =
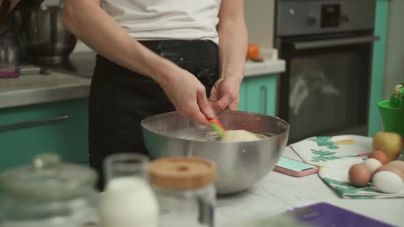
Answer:
POLYGON ((41 152, 88 162, 88 100, 0 109, 0 171, 32 162, 41 152))

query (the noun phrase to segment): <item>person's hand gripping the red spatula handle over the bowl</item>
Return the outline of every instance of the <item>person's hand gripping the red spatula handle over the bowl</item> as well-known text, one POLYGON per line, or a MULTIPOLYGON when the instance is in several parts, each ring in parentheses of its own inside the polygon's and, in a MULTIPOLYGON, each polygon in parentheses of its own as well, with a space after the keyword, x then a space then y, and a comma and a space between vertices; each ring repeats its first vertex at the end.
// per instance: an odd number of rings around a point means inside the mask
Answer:
POLYGON ((182 116, 188 116, 201 125, 207 125, 208 119, 216 118, 207 101, 205 87, 187 70, 178 68, 157 83, 182 116))

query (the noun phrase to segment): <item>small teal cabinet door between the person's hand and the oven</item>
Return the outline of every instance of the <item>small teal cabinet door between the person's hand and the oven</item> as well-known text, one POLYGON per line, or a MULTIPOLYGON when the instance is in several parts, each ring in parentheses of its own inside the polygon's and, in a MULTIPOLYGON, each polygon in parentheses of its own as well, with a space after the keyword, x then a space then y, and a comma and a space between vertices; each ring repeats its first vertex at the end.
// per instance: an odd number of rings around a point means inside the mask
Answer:
POLYGON ((278 75, 244 77, 238 110, 275 116, 278 75))

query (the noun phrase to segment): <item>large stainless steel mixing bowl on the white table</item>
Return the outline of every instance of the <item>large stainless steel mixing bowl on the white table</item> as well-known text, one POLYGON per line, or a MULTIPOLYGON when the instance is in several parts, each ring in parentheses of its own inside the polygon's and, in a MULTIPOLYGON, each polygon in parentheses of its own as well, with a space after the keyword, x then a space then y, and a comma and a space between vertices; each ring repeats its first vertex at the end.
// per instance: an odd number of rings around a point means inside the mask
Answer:
POLYGON ((198 133, 207 135, 210 129, 177 112, 146 118, 142 120, 142 128, 144 144, 153 159, 196 156, 215 161, 216 190, 223 195, 248 189, 273 170, 288 142, 290 126, 279 118, 244 111, 223 111, 218 116, 229 130, 244 129, 273 136, 254 142, 194 140, 192 137, 198 133))

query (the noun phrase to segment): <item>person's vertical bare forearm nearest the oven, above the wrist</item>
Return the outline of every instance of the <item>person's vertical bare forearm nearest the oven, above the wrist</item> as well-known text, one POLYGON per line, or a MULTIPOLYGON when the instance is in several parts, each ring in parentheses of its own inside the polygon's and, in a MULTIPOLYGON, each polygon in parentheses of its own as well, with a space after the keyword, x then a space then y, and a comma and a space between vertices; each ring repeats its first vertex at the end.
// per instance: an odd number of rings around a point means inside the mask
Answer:
POLYGON ((242 79, 245 71, 248 35, 244 18, 220 21, 219 67, 221 77, 238 77, 242 79))

